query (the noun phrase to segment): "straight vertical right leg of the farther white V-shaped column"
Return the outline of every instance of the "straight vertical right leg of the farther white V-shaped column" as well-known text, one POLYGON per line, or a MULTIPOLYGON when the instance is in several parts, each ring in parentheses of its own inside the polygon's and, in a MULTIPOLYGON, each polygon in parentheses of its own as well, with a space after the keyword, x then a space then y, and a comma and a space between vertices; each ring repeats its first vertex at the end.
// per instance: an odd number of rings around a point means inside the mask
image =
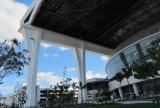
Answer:
MULTIPOLYGON (((85 43, 82 43, 82 84, 86 85, 86 52, 85 52, 85 43)), ((83 89, 83 102, 87 100, 87 88, 83 89)))

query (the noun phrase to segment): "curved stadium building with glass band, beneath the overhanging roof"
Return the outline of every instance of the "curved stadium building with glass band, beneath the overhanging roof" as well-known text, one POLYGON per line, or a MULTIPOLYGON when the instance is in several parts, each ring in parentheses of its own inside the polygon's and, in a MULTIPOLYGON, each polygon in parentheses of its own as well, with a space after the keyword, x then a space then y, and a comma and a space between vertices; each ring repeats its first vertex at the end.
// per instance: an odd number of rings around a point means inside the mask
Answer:
MULTIPOLYGON (((132 65, 136 63, 146 63, 152 62, 148 57, 146 49, 150 47, 150 43, 160 36, 158 32, 160 30, 160 24, 155 24, 127 39, 125 42, 120 44, 110 55, 109 61, 106 64, 106 73, 110 79, 109 88, 116 97, 122 98, 122 93, 124 97, 129 97, 128 82, 126 79, 122 81, 122 88, 120 88, 120 83, 114 80, 116 73, 121 72, 122 68, 129 69, 132 65), (143 34, 143 36, 142 36, 143 34)), ((158 71, 159 72, 159 71, 158 71)), ((129 78, 129 83, 131 87, 132 95, 141 95, 143 90, 141 87, 141 80, 134 78, 133 76, 129 78)), ((159 81, 154 79, 152 85, 160 86, 159 81)), ((149 84, 144 85, 145 92, 150 94, 147 89, 149 84)))

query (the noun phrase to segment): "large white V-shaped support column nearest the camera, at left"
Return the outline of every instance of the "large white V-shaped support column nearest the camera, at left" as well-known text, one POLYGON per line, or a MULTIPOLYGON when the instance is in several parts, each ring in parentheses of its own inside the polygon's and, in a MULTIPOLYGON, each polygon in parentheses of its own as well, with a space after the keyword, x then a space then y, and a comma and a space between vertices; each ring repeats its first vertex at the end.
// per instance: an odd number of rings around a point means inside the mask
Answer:
POLYGON ((25 46, 28 50, 27 57, 29 58, 27 66, 27 97, 25 107, 36 108, 36 78, 37 78, 37 66, 38 66, 38 56, 39 47, 42 36, 42 31, 40 30, 29 30, 23 28, 22 35, 24 37, 25 46), (33 46, 31 48, 30 40, 33 40, 33 46))

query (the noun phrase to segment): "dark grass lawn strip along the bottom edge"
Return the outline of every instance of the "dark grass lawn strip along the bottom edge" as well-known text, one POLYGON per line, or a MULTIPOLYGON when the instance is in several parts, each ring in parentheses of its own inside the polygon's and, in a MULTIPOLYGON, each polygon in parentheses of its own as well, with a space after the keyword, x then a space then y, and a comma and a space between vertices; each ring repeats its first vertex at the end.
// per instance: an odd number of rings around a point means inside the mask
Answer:
MULTIPOLYGON (((49 107, 51 108, 51 107, 49 107)), ((64 108, 160 108, 155 103, 139 103, 139 104, 118 104, 106 106, 80 106, 80 107, 64 107, 64 108)))

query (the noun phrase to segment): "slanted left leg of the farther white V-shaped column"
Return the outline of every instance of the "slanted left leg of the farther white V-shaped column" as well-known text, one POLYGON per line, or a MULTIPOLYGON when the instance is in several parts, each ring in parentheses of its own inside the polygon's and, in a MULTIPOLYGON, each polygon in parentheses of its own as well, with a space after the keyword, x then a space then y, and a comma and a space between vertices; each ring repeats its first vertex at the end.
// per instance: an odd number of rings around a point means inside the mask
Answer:
MULTIPOLYGON (((78 48, 74 48, 73 53, 76 60, 77 71, 78 71, 78 83, 79 83, 80 81, 82 81, 81 80, 81 55, 78 48)), ((78 91, 78 103, 81 103, 81 90, 78 91)))

